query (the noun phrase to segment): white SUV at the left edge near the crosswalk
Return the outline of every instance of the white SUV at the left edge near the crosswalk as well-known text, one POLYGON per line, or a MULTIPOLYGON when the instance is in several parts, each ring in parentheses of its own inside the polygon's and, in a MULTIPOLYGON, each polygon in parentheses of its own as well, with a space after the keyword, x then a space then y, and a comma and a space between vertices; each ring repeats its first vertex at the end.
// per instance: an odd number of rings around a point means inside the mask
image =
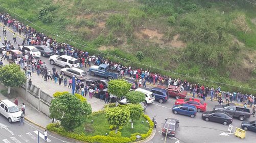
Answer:
POLYGON ((0 114, 8 118, 9 123, 20 121, 21 113, 19 107, 13 102, 7 99, 0 102, 0 114))

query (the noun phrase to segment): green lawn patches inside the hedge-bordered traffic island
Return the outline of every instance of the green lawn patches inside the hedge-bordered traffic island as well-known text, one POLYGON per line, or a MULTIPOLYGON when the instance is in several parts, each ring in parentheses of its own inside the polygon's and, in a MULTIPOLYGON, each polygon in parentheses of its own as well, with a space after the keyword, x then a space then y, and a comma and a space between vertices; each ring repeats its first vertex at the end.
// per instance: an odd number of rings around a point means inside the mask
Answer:
MULTIPOLYGON (((110 129, 110 125, 108 124, 105 113, 99 113, 93 116, 90 116, 87 118, 86 122, 81 126, 75 129, 75 133, 78 134, 84 134, 84 135, 106 135, 108 134, 110 129), (94 121, 94 123, 91 123, 91 121, 94 121), (87 130, 90 130, 91 132, 86 132, 84 130, 84 127, 87 127, 87 130)), ((146 119, 144 117, 141 117, 139 120, 135 120, 133 122, 133 129, 131 129, 131 124, 128 123, 127 125, 123 126, 123 129, 121 130, 122 136, 124 137, 130 137, 133 133, 141 133, 145 134, 149 130, 149 124, 146 123, 146 119), (142 123, 144 121, 144 123, 142 123)))

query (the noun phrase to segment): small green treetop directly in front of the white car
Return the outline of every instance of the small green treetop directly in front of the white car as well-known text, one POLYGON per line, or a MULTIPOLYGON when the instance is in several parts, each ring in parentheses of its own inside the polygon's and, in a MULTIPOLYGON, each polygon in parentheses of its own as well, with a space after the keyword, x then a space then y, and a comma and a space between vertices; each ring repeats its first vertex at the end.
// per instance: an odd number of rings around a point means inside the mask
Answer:
POLYGON ((125 98, 127 102, 136 104, 145 101, 145 94, 139 91, 131 91, 126 94, 125 98))

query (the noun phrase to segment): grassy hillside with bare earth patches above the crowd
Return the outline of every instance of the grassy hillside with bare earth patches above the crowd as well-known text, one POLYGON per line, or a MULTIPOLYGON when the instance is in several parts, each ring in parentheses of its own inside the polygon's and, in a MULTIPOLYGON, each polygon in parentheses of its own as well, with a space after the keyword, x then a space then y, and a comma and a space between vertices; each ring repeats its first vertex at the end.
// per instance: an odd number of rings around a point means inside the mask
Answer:
POLYGON ((58 34, 53 35, 58 41, 128 59, 105 55, 127 65, 146 67, 137 64, 142 63, 172 77, 180 76, 168 70, 256 89, 256 8, 246 1, 9 0, 1 5, 10 10, 0 7, 2 11, 25 21, 12 14, 17 13, 48 31, 38 30, 58 34), (144 54, 141 61, 138 51, 144 54))

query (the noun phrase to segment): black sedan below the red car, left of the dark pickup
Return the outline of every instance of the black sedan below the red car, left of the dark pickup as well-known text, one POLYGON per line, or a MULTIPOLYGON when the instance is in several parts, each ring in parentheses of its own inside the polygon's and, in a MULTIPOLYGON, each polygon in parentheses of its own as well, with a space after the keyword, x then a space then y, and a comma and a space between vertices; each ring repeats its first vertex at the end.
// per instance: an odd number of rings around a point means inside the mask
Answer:
POLYGON ((229 125, 232 123, 232 116, 225 111, 213 110, 202 113, 202 118, 205 121, 213 121, 221 123, 223 125, 229 125))

